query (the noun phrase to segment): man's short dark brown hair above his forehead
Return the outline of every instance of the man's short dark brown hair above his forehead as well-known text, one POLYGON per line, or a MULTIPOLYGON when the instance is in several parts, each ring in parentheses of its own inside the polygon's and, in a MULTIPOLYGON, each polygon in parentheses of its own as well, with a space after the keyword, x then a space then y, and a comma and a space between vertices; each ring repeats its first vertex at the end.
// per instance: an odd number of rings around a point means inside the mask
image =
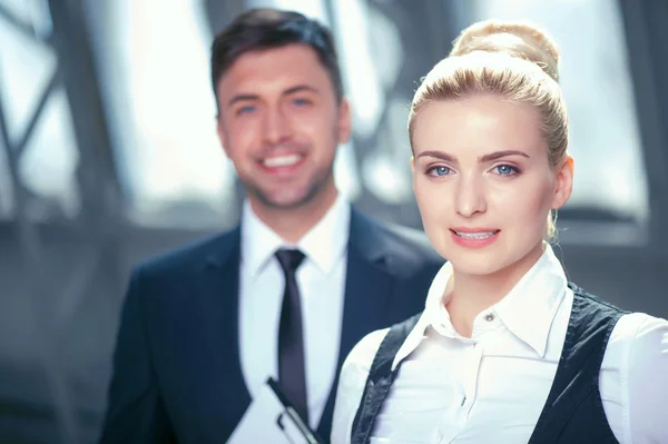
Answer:
POLYGON ((216 90, 220 77, 244 53, 254 50, 304 43, 313 48, 330 73, 336 99, 343 97, 341 69, 330 29, 294 11, 250 9, 237 16, 212 45, 212 83, 216 90))

